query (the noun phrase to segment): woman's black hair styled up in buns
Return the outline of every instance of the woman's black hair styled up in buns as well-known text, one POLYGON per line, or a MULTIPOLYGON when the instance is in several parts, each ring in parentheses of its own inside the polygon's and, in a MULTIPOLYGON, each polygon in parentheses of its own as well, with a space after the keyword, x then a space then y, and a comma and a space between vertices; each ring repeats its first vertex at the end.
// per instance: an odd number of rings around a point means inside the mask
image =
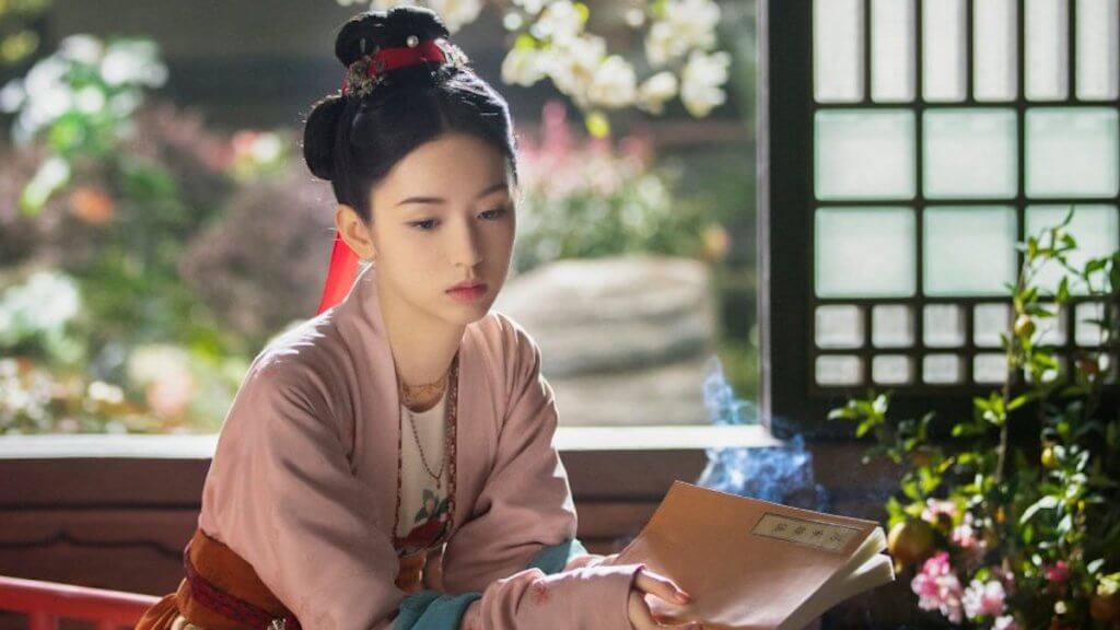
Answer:
MULTIPOLYGON (((339 29, 335 56, 348 68, 375 49, 405 46, 410 36, 446 39, 448 31, 428 9, 367 11, 339 29)), ((318 101, 304 124, 304 159, 316 177, 330 182, 339 203, 370 222, 372 186, 413 149, 449 132, 492 145, 516 176, 505 99, 473 71, 451 64, 398 68, 364 96, 338 93, 318 101)))

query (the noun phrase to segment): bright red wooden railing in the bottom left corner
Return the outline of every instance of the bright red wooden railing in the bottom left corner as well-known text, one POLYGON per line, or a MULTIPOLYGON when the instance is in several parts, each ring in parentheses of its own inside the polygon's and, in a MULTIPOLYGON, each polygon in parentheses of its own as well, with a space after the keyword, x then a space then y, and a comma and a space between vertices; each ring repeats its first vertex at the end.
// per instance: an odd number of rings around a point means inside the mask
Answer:
POLYGON ((0 576, 0 610, 26 614, 29 630, 58 630, 64 618, 93 622, 96 630, 132 628, 157 601, 152 595, 0 576))

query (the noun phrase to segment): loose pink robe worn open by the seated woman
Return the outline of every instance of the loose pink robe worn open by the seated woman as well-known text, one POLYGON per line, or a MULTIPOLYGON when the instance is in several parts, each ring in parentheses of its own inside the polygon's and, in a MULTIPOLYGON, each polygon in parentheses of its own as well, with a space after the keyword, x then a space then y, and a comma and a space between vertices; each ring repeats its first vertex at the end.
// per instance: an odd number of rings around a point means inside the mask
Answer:
POLYGON ((577 555, 560 573, 526 568, 576 537, 536 344, 491 312, 466 327, 458 386, 454 528, 431 591, 394 584, 400 402, 372 268, 253 362, 222 427, 199 527, 306 630, 394 619, 398 630, 455 628, 477 599, 452 596, 465 593, 482 594, 486 629, 631 630, 636 565, 577 555))

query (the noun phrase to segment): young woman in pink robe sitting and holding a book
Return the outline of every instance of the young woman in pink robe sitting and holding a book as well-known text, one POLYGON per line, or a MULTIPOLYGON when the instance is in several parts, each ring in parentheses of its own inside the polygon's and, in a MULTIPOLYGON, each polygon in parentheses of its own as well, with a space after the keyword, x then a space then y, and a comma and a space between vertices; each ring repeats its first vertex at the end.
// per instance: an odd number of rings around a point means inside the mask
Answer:
POLYGON ((646 594, 688 600, 576 538, 540 352, 489 312, 508 110, 447 36, 416 8, 339 31, 343 89, 304 135, 338 201, 321 313, 253 362, 186 577, 140 629, 647 630, 646 594))

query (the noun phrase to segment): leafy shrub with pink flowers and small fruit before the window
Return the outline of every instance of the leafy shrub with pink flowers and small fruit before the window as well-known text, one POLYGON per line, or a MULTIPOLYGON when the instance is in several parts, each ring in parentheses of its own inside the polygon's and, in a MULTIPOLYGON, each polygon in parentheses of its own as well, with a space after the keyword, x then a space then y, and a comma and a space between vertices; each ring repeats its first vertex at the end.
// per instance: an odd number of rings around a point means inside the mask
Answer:
POLYGON ((1120 251, 1071 261, 1060 225, 1023 244, 1002 334, 1007 378, 933 439, 933 415, 890 417, 888 393, 850 400, 831 417, 874 436, 870 456, 903 469, 886 508, 889 547, 923 609, 970 628, 1104 629, 1120 624, 1120 409, 1102 405, 1120 350, 1120 251), (1044 293, 1036 278, 1064 277, 1044 293), (1071 287, 1079 287, 1081 293, 1071 287), (1098 304, 1100 344, 1063 370, 1044 342, 1057 308, 1098 304), (1011 432, 1033 439, 1011 441, 1011 432))

